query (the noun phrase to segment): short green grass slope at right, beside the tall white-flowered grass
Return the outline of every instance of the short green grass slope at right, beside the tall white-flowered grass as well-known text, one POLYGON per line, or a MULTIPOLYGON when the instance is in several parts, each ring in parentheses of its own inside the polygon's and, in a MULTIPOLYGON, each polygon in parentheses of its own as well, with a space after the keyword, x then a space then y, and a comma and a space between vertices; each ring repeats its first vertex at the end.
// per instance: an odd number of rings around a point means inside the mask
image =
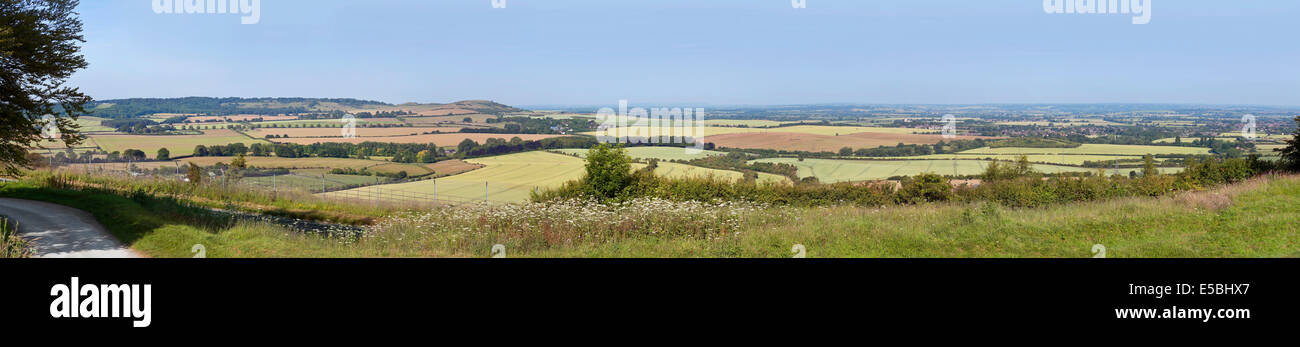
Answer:
POLYGON ((534 256, 788 257, 793 244, 805 244, 810 257, 1089 257, 1093 244, 1109 257, 1296 257, 1300 178, 1020 211, 812 209, 731 242, 645 239, 534 256))

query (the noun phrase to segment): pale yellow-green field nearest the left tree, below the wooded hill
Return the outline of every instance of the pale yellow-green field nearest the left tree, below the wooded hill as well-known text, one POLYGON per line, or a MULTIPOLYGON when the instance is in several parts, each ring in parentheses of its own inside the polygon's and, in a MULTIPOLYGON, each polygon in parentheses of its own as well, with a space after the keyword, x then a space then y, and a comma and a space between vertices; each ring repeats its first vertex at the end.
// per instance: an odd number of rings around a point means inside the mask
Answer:
POLYGON ((140 149, 153 157, 159 148, 168 148, 173 157, 194 155, 196 146, 226 146, 231 143, 268 143, 251 139, 231 130, 205 130, 203 135, 90 135, 100 148, 108 152, 140 149))

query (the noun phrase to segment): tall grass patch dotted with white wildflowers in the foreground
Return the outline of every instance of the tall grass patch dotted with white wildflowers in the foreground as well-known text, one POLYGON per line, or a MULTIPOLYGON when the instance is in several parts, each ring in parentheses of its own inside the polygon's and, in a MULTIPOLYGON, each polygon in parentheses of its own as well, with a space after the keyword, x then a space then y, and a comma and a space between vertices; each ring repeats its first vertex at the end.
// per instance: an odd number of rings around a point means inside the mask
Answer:
MULTIPOLYGON (((382 256, 485 256, 494 244, 511 252, 629 240, 725 242, 745 230, 779 224, 796 213, 753 203, 634 199, 601 204, 558 200, 524 205, 463 205, 407 213, 376 225, 359 247, 382 256)), ((628 250, 653 255, 654 250, 628 250)), ((560 255, 563 256, 563 255, 560 255)))

